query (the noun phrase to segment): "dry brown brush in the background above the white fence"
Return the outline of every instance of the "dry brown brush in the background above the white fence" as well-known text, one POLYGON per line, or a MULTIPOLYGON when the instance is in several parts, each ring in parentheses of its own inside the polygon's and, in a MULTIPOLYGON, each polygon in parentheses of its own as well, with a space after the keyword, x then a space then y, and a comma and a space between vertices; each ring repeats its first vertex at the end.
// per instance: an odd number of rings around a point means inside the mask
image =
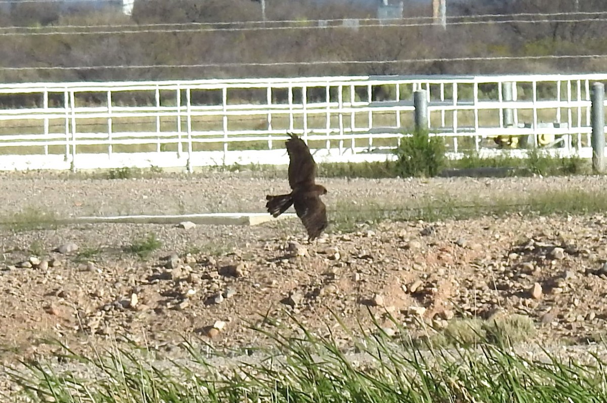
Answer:
MULTIPOLYGON (((605 22, 595 16, 571 14, 575 2, 515 0, 464 2, 449 6, 451 15, 501 13, 570 13, 551 17, 517 16, 528 22, 450 25, 447 32, 433 26, 389 26, 348 29, 223 30, 246 28, 261 19, 259 2, 251 0, 136 1, 131 18, 118 12, 84 9, 66 12, 55 5, 16 4, 0 15, 3 32, 27 32, 0 38, 6 67, 83 67, 171 64, 273 63, 308 61, 391 61, 418 58, 485 56, 583 55, 605 53, 605 22), (563 20, 585 18, 582 22, 563 20), (249 21, 248 24, 219 24, 249 21), (194 25, 192 25, 194 23, 194 25), (195 25, 208 23, 208 25, 195 25), (120 25, 135 24, 126 33, 120 25), (148 24, 177 24, 154 29, 148 24), (67 28, 66 25, 81 28, 67 28), (94 25, 105 25, 95 28, 94 25), (212 28, 212 30, 209 30, 212 28), (144 32, 148 29, 147 32, 144 32), (97 32, 90 35, 29 35, 45 32, 97 32)), ((376 8, 350 2, 266 1, 268 20, 290 20, 297 27, 317 26, 317 19, 376 18, 376 8)), ((367 3, 370 4, 370 3, 367 3)), ((580 12, 602 10, 600 0, 579 2, 580 12)), ((405 16, 431 15, 430 5, 407 6, 405 16)), ((459 21, 465 21, 466 18, 459 21)), ((428 21, 428 20, 420 20, 428 21)), ((406 21, 412 22, 412 21, 406 21)), ((415 20, 413 20, 415 22, 415 20)), ((216 66, 200 68, 149 67, 144 69, 16 70, 2 72, 2 81, 129 80, 225 76, 302 76, 395 73, 496 73, 597 71, 592 59, 540 61, 435 61, 427 63, 371 63, 281 66, 216 66)))

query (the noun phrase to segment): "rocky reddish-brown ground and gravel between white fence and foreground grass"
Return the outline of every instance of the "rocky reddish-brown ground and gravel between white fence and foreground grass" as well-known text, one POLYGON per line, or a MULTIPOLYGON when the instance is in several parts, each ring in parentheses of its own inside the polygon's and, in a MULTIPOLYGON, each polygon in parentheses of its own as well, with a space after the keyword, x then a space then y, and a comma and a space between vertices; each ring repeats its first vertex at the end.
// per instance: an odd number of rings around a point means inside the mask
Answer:
MULTIPOLYGON (((334 206, 407 205, 422 197, 467 200, 549 189, 599 189, 604 178, 319 180, 334 206)), ((248 324, 311 330, 347 340, 348 327, 388 315, 415 332, 495 313, 531 318, 544 345, 588 344, 607 324, 605 215, 368 223, 333 228, 314 243, 297 220, 259 226, 95 224, 39 217, 263 211, 287 181, 215 172, 104 180, 2 174, 0 339, 11 361, 46 354, 41 342, 113 345, 126 337, 170 351, 183 337, 215 346, 261 344, 248 324), (42 218, 40 218, 42 220, 42 218), (42 220, 44 221, 44 220, 42 220), (38 227, 38 228, 36 228, 38 227), (268 322, 270 319, 266 319, 268 322)), ((331 213, 330 213, 331 214, 331 213)))

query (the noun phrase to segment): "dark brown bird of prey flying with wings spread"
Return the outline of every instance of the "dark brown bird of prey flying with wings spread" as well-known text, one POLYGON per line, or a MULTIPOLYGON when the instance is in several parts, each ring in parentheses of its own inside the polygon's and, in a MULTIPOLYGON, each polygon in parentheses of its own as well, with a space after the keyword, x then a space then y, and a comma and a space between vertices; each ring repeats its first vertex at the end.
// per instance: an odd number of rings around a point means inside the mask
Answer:
POLYGON ((290 159, 289 185, 293 191, 277 196, 266 195, 266 208, 278 217, 293 205, 308 232, 308 241, 313 241, 327 228, 327 207, 320 200, 320 195, 327 194, 327 189, 314 182, 316 163, 308 145, 296 135, 289 135, 291 138, 285 144, 290 159))

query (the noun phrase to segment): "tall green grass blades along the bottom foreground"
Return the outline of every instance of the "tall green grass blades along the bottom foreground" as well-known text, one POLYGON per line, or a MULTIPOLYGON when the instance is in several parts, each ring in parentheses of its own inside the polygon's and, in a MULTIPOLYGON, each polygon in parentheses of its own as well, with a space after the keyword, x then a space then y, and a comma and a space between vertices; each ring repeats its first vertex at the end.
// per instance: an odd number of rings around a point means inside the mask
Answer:
POLYGON ((591 353, 581 362, 536 347, 532 357, 520 352, 528 348, 482 340, 462 348, 415 348, 404 328, 390 338, 379 328, 361 327, 350 332, 359 351, 353 357, 331 333, 314 336, 301 325, 300 336, 278 328, 256 331, 271 346, 249 350, 259 354, 250 364, 221 369, 212 360, 224 354, 209 346, 203 355, 185 343, 186 358, 165 361, 169 368, 144 349, 84 356, 64 346, 59 362, 86 368, 95 381, 78 371, 58 372, 42 360, 24 362, 25 370, 5 367, 5 372, 23 387, 20 395, 56 403, 607 401, 607 363, 591 353))

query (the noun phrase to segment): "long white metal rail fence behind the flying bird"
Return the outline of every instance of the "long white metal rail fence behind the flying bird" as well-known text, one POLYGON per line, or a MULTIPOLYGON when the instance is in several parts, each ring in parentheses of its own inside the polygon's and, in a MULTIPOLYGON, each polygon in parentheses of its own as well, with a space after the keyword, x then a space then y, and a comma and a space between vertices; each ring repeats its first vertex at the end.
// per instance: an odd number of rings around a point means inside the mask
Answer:
POLYGON ((594 81, 607 74, 4 84, 0 169, 286 164, 287 130, 319 161, 382 161, 420 89, 450 157, 498 152, 498 135, 591 157, 594 81))

